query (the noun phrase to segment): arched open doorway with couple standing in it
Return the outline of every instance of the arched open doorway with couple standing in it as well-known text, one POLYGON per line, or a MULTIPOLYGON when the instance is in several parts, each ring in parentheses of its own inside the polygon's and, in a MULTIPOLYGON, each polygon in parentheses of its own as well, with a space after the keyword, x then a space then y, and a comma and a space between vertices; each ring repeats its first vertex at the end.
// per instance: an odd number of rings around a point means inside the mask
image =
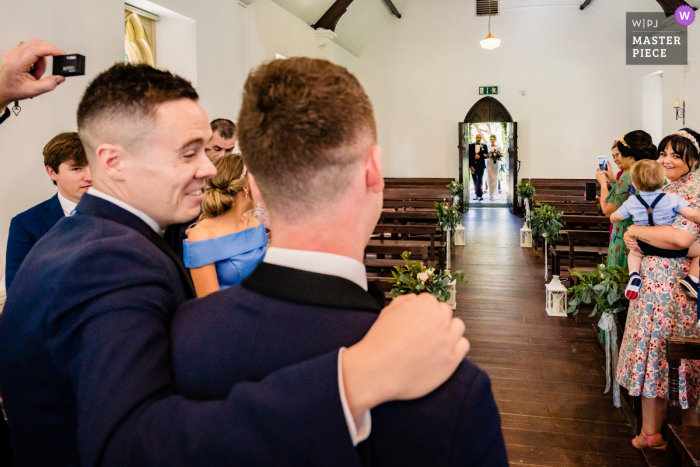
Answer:
POLYGON ((493 97, 479 100, 464 122, 459 123, 459 154, 459 179, 465 187, 464 206, 509 207, 513 211, 518 183, 518 124, 493 97), (483 144, 479 149, 475 145, 477 139, 483 144), (493 155, 495 148, 500 157, 493 155), (484 154, 476 157, 477 150, 484 154))

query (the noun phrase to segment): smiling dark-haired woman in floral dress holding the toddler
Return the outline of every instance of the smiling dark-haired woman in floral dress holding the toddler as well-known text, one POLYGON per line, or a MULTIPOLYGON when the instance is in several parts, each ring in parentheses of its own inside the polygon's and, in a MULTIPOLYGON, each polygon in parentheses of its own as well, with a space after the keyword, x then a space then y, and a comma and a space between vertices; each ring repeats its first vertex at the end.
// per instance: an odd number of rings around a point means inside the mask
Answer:
MULTIPOLYGON (((700 161, 698 142, 700 135, 688 129, 667 136, 659 145, 659 162, 670 181, 664 192, 681 195, 700 210, 700 174, 695 171, 700 161)), ((637 248, 637 240, 678 250, 700 240, 700 229, 679 214, 672 226, 630 227, 625 235, 627 246, 637 248)), ((617 381, 630 395, 642 395, 642 432, 632 440, 639 449, 663 449, 666 445, 660 434, 668 397, 666 339, 700 337, 697 303, 688 300, 680 287, 689 264, 688 258, 645 256, 639 297, 630 303, 617 381)), ((683 360, 679 373, 682 407, 700 410, 700 361, 683 360)), ((683 412, 684 423, 698 422, 696 412, 683 412)))

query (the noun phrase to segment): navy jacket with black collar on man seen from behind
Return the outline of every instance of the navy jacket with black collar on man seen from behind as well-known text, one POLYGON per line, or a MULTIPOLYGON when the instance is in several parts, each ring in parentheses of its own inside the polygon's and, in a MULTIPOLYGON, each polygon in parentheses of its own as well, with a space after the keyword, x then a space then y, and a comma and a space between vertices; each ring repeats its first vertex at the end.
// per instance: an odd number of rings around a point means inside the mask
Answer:
MULTIPOLYGON (((264 380, 278 368, 357 343, 379 309, 351 281, 261 263, 240 286, 178 310, 171 331, 176 388, 191 398, 226 397, 239 381, 264 380)), ((371 435, 358 453, 373 467, 506 467, 488 376, 464 360, 431 394, 374 408, 371 435)))

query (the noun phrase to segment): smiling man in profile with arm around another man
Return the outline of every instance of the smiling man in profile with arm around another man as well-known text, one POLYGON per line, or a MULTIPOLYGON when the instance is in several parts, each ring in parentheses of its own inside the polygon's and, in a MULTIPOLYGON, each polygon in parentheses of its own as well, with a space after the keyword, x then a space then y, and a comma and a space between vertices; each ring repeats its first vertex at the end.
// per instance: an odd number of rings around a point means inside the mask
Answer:
POLYGON ((355 467, 369 410, 424 396, 466 354, 450 310, 404 300, 347 349, 217 400, 177 394, 170 326, 194 291, 162 234, 197 215, 215 174, 207 115, 186 80, 120 63, 88 86, 78 132, 94 185, 29 252, 0 320, 16 467, 355 467))

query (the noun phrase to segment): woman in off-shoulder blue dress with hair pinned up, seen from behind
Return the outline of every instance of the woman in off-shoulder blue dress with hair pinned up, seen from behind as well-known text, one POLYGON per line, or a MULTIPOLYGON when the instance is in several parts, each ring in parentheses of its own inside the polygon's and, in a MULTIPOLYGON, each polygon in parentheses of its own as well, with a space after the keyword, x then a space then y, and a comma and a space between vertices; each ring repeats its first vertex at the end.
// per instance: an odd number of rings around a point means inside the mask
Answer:
POLYGON ((183 243, 198 297, 240 284, 265 257, 265 226, 250 214, 256 204, 240 154, 216 161, 207 180, 202 214, 183 243))

